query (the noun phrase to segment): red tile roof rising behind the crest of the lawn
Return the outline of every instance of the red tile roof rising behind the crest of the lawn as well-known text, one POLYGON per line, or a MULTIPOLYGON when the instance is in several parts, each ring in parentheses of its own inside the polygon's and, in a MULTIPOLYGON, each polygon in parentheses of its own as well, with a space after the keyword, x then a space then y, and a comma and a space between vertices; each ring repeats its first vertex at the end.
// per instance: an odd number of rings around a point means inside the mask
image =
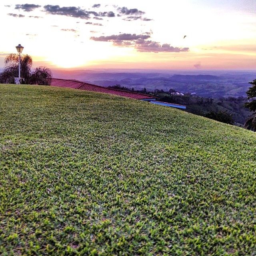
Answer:
POLYGON ((78 80, 72 80, 72 79, 60 79, 60 78, 52 78, 52 84, 51 86, 60 86, 60 87, 68 87, 78 90, 86 90, 86 91, 92 91, 92 92, 103 92, 108 94, 114 94, 118 96, 123 96, 127 98, 132 98, 136 100, 152 100, 154 97, 140 94, 136 92, 126 92, 118 89, 111 89, 106 88, 103 86, 98 86, 95 84, 88 84, 85 82, 81 82, 78 80))

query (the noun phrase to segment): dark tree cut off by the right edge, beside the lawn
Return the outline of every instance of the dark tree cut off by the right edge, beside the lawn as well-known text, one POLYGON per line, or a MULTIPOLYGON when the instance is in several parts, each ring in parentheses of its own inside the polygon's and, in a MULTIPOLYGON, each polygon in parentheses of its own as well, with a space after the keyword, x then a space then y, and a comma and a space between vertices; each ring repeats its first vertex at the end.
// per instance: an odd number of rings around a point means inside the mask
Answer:
POLYGON ((249 84, 252 84, 252 87, 249 88, 246 94, 248 100, 250 101, 246 102, 244 106, 249 108, 250 111, 254 111, 254 113, 247 118, 244 128, 256 132, 256 80, 250 82, 249 84))

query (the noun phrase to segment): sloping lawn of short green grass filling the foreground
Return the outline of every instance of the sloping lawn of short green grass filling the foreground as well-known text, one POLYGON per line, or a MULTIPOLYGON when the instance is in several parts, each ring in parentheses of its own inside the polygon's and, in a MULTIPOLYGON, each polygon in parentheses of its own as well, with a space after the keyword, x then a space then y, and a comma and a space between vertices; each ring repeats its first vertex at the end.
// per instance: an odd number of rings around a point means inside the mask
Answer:
POLYGON ((256 255, 255 150, 180 110, 0 85, 0 254, 256 255))

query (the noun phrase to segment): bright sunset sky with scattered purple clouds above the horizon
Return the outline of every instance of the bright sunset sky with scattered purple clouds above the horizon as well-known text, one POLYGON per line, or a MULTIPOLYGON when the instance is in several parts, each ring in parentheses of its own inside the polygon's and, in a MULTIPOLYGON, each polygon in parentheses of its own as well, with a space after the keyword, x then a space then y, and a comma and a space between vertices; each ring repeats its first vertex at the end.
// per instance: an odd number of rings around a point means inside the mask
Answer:
POLYGON ((2 0, 0 68, 21 44, 49 68, 255 70, 255 12, 255 0, 2 0))

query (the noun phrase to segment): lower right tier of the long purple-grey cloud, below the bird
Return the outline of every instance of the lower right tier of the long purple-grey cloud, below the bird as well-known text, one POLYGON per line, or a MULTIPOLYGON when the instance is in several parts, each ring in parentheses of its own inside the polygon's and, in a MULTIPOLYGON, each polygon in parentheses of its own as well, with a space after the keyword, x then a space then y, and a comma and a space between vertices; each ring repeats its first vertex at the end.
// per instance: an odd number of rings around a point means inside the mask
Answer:
POLYGON ((160 44, 151 40, 137 40, 135 45, 139 52, 188 52, 189 48, 170 46, 170 44, 160 44))

